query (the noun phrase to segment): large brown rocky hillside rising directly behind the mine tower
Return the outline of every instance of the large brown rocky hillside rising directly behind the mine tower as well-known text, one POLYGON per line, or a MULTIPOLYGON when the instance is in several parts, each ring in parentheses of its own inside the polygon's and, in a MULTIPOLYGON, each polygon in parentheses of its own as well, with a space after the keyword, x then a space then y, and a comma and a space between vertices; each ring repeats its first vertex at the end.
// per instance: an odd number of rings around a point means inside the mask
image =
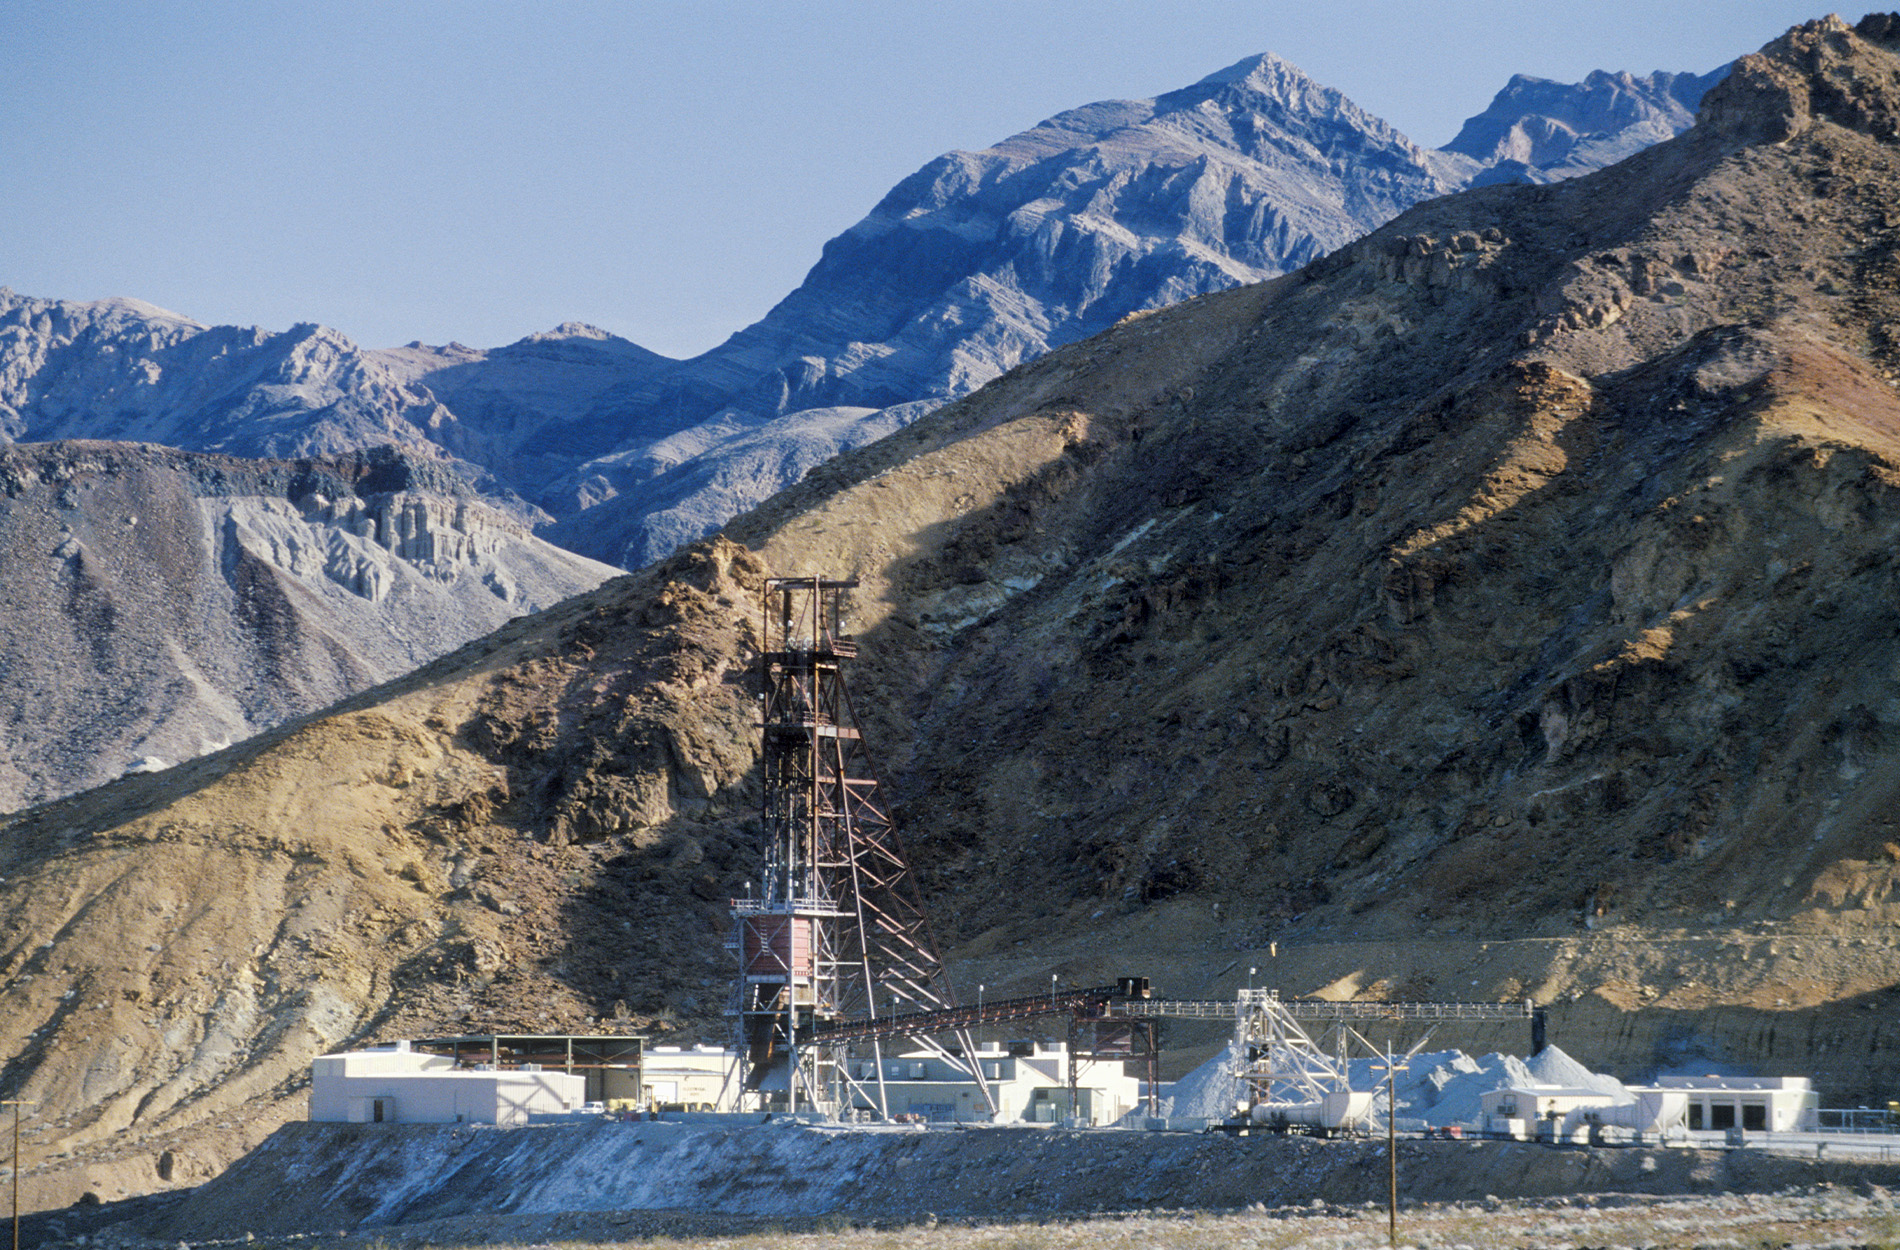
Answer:
POLYGON ((1125 319, 718 540, 25 813, 0 1083, 65 1109, 36 1149, 201 1176, 357 1037, 618 1001, 720 1037, 768 572, 861 583, 853 693, 961 982, 1258 963, 1533 997, 1624 1077, 1885 1096, 1896 47, 1801 27, 1611 169, 1125 319))

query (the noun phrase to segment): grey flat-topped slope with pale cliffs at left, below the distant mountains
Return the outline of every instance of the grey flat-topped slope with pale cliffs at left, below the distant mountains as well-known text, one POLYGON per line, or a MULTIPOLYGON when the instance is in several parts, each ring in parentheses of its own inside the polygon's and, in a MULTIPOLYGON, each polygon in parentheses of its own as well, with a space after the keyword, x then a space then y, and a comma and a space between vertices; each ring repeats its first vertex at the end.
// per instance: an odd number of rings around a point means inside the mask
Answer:
POLYGON ((390 448, 0 448, 0 807, 226 747, 612 574, 390 448))

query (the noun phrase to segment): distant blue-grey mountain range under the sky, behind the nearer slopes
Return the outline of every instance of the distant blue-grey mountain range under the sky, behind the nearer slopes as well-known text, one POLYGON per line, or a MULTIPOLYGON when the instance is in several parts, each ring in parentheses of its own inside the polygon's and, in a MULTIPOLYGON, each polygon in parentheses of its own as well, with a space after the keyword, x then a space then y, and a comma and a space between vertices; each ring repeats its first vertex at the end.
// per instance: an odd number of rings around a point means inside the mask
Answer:
POLYGON ((1478 179, 1621 160, 1683 129, 1716 78, 1520 76, 1427 150, 1286 61, 1248 57, 937 158, 766 317, 688 361, 578 323, 494 350, 363 350, 317 325, 203 327, 137 300, 0 291, 0 431, 274 458, 399 446, 636 568, 920 405, 1134 312, 1284 274, 1478 179), (764 443, 783 446, 777 464, 749 450, 764 443))

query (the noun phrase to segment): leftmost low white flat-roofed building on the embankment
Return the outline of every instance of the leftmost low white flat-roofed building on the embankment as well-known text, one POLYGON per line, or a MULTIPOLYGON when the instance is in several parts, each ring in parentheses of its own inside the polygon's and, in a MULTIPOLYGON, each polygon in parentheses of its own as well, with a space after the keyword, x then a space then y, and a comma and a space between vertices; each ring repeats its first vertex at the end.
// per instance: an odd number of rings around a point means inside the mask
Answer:
POLYGON ((407 1041, 323 1054, 310 1066, 310 1119, 348 1125, 524 1125, 580 1111, 587 1079, 526 1068, 458 1068, 407 1041))

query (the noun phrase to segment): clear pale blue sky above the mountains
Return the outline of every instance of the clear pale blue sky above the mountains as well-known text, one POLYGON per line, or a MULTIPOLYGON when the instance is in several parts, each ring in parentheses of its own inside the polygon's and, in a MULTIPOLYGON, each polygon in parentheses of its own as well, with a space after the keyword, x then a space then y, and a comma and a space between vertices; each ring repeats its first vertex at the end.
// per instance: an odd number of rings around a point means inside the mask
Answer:
MULTIPOLYGON (((1275 51, 1423 144, 1790 0, 4 0, 0 285, 365 346, 690 355, 918 165, 1275 51)), ((1862 9, 1847 15, 1858 17, 1862 9)))

